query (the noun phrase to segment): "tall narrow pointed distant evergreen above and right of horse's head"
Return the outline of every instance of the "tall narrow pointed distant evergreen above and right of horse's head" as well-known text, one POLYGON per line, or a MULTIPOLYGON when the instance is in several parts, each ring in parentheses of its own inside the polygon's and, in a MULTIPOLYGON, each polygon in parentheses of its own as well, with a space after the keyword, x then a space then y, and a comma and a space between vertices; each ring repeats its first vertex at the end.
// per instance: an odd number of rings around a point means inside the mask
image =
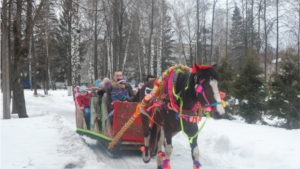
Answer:
POLYGON ((234 68, 241 68, 245 56, 245 40, 244 40, 243 18, 240 9, 235 5, 232 15, 232 28, 229 34, 230 54, 229 62, 234 68))

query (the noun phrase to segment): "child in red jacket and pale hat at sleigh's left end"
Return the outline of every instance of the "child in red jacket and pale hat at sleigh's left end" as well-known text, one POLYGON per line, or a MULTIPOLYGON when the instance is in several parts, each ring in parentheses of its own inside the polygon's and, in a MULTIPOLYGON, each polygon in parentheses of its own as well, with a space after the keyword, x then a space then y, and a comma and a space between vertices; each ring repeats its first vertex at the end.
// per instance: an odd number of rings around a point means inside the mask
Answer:
POLYGON ((81 86, 79 88, 79 93, 76 97, 77 103, 80 107, 80 110, 84 112, 84 117, 86 120, 86 125, 88 129, 90 129, 90 119, 91 119, 91 111, 90 111, 90 99, 92 97, 92 93, 88 93, 87 88, 85 86, 81 86))

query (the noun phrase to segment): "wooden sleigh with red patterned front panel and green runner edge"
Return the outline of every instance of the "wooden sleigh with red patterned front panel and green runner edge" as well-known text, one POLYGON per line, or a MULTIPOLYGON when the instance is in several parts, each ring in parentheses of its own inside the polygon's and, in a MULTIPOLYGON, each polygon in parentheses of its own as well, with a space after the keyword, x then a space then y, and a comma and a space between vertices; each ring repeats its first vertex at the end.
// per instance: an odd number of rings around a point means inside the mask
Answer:
POLYGON ((108 118, 106 98, 106 94, 101 102, 98 97, 91 98, 90 126, 75 100, 76 132, 97 140, 111 157, 118 157, 123 150, 140 150, 144 137, 140 118, 135 115, 139 103, 115 101, 113 118, 108 118))

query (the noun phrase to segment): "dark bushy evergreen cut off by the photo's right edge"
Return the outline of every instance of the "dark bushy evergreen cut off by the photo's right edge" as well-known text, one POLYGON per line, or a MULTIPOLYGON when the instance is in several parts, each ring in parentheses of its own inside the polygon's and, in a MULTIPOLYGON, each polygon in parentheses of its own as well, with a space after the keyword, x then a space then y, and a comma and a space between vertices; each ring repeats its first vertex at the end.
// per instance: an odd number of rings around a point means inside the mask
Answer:
POLYGON ((282 127, 300 128, 300 78, 297 68, 297 57, 286 54, 279 64, 279 73, 271 76, 269 115, 271 118, 285 119, 282 127))

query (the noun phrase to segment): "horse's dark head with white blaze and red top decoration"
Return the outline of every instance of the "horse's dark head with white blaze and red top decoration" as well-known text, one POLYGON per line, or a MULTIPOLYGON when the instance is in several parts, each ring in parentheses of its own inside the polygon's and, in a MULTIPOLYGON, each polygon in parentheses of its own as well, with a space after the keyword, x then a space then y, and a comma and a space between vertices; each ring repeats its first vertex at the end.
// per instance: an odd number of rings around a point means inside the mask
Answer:
POLYGON ((219 78, 215 68, 216 65, 200 66, 195 64, 192 73, 198 101, 206 111, 210 112, 211 117, 219 119, 225 110, 221 103, 218 88, 219 78))

